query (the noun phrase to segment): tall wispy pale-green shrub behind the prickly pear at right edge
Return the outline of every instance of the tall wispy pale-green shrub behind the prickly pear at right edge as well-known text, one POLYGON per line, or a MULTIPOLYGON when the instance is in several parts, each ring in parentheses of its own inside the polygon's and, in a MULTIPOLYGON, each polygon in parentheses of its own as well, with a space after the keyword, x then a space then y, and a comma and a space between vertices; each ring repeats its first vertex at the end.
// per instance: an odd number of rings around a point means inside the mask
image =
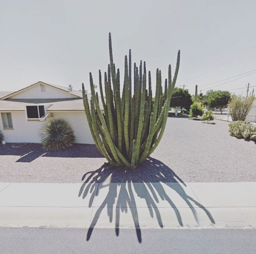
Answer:
POLYGON ((233 121, 245 121, 246 116, 252 108, 254 96, 245 98, 235 95, 229 102, 229 111, 233 121))

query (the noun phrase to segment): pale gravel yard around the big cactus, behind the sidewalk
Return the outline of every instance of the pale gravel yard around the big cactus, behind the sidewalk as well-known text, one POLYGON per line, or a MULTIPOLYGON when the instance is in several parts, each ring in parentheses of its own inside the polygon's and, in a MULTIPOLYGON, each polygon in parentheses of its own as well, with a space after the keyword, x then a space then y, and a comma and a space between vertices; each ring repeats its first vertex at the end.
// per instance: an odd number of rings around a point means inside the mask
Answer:
MULTIPOLYGON (((113 181, 123 182, 251 182, 256 181, 256 144, 231 137, 228 123, 215 125, 169 117, 157 149, 132 172, 111 169, 113 181), (121 173, 122 172, 122 173, 121 173), (128 175, 127 175, 128 174, 128 175)), ((76 144, 63 152, 46 152, 39 144, 0 146, 0 182, 81 183, 85 173, 100 173, 106 162, 95 145, 76 144)), ((94 174, 95 175, 95 174, 94 174)))

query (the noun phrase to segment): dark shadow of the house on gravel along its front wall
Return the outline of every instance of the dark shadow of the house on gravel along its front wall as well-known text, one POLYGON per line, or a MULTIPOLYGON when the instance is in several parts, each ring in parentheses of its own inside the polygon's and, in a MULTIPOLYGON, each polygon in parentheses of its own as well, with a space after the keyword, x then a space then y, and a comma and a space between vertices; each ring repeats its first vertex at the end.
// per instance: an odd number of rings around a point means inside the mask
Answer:
POLYGON ((75 144, 73 147, 60 152, 45 151, 41 144, 28 143, 23 147, 12 148, 12 143, 0 146, 1 155, 21 156, 16 162, 32 162, 40 156, 60 158, 103 158, 95 145, 75 144))

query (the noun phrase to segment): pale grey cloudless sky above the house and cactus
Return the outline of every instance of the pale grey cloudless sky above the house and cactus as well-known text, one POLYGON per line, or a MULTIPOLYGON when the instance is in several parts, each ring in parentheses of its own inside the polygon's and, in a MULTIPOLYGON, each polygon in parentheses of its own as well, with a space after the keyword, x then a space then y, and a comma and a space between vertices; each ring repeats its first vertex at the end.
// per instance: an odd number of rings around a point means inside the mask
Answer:
POLYGON ((121 74, 131 49, 132 62, 164 80, 180 49, 176 86, 191 94, 196 84, 204 93, 256 86, 256 0, 0 0, 0 91, 37 81, 89 90, 89 72, 98 84, 107 70, 109 32, 121 74))

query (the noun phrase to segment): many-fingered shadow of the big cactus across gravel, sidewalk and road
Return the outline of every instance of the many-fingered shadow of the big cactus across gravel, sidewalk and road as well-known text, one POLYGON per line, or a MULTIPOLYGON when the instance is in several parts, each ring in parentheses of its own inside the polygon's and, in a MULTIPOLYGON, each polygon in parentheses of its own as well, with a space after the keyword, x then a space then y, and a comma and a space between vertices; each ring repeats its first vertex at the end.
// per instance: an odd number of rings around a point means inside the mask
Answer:
POLYGON ((163 187, 164 185, 173 189, 177 194, 179 194, 180 198, 187 203, 197 224, 197 213, 193 205, 203 209, 211 223, 215 223, 210 212, 204 208, 203 205, 199 204, 196 200, 186 194, 183 188, 186 187, 186 184, 174 173, 174 171, 159 160, 153 158, 148 158, 146 162, 136 168, 136 170, 125 170, 124 168, 117 167, 111 168, 108 167, 108 165, 103 165, 95 171, 90 171, 84 174, 82 181, 84 181, 84 183, 80 187, 78 196, 85 198, 87 195, 90 195, 89 207, 93 205, 95 197, 99 195, 101 190, 108 188, 108 192, 102 204, 99 206, 95 214, 92 214, 91 225, 87 231, 87 241, 91 237, 101 212, 106 207, 110 223, 113 220, 113 210, 115 209, 115 231, 117 236, 119 235, 120 212, 127 213, 127 210, 130 209, 137 238, 141 243, 142 235, 139 225, 138 210, 134 198, 135 195, 146 201, 151 217, 154 216, 155 212, 159 227, 162 228, 163 223, 161 214, 157 206, 159 199, 156 194, 158 194, 162 200, 166 200, 169 203, 170 207, 176 214, 178 223, 182 227, 183 223, 180 212, 172 201, 172 197, 169 197, 166 194, 163 187), (84 181, 84 179, 86 180, 84 181), (142 184, 138 185, 136 183, 142 184), (132 187, 135 192, 132 190, 132 187))

